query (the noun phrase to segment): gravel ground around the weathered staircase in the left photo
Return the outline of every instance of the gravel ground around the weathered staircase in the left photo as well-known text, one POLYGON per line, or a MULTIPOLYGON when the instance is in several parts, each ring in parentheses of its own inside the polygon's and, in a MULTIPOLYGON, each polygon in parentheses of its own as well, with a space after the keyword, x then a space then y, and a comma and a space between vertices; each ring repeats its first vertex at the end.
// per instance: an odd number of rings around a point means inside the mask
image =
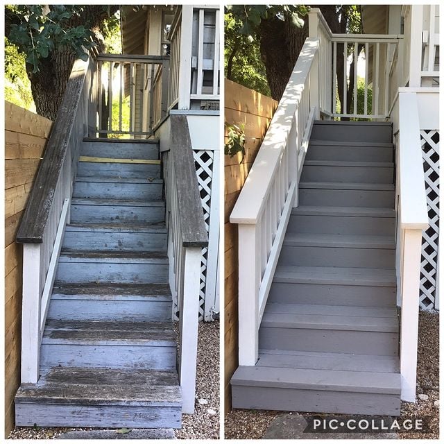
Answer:
MULTIPOLYGON (((175 323, 176 332, 177 329, 178 323, 175 323)), ((182 415, 182 429, 176 430, 176 438, 219 438, 219 385, 219 321, 199 323, 196 413, 182 415), (199 404, 198 400, 201 402, 206 400, 207 404, 199 404)), ((62 433, 74 430, 92 429, 85 427, 15 427, 8 439, 55 439, 62 433)))

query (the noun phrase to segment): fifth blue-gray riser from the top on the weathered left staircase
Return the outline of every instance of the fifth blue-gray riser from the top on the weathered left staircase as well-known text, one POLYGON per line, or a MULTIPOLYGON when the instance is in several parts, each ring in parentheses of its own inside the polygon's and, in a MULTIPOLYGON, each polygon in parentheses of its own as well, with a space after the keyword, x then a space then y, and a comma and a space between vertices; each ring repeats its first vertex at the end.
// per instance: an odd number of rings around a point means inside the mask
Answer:
POLYGON ((162 251, 167 233, 65 231, 62 248, 89 251, 162 251))

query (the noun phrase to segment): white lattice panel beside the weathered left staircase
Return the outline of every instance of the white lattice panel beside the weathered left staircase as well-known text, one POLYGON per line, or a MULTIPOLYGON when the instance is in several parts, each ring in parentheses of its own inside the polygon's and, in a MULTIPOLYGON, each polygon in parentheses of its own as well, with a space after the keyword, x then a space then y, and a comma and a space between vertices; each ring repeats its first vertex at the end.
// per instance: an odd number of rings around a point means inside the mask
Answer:
MULTIPOLYGON (((207 232, 210 235, 210 207, 214 152, 209 150, 198 150, 193 151, 193 155, 194 163, 196 164, 196 174, 198 179, 200 198, 202 200, 205 228, 207 228, 207 232)), ((207 259, 208 248, 202 248, 202 259, 200 262, 199 319, 208 319, 208 315, 205 314, 207 259)))

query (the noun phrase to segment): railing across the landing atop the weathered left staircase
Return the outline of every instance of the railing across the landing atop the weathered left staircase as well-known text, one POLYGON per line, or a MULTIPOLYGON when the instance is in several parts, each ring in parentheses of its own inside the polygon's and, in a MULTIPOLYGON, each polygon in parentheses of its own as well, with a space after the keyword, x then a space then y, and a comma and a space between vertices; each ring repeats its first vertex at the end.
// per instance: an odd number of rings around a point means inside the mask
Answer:
POLYGON ((99 54, 91 89, 91 137, 147 137, 167 115, 168 56, 99 54), (96 99, 93 99, 96 97, 96 99))

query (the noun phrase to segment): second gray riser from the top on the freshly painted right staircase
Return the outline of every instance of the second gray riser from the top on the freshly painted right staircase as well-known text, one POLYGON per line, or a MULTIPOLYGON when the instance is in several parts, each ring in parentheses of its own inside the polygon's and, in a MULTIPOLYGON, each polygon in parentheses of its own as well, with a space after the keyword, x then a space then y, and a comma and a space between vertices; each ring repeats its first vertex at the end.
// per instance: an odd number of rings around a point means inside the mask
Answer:
POLYGON ((305 160, 393 162, 393 149, 375 146, 309 145, 305 160))

